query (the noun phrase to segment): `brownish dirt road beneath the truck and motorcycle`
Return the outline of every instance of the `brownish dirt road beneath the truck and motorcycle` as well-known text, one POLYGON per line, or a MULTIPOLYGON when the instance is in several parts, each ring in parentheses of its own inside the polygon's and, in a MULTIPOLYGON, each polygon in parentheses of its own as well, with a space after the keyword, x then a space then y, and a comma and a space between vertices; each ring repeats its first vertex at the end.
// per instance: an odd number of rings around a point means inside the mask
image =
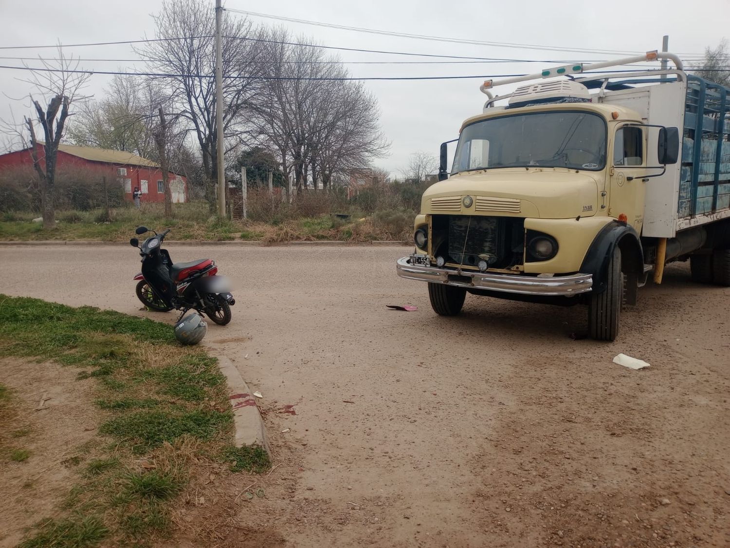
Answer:
MULTIPOLYGON (((276 467, 264 497, 220 485, 183 512, 175 544, 730 546, 730 289, 687 265, 596 343, 570 337, 581 307, 469 296, 436 316, 396 277, 407 248, 169 250, 236 284, 206 340, 264 395, 276 467)), ((147 314, 137 270, 119 246, 0 248, 0 292, 70 305, 147 314)))

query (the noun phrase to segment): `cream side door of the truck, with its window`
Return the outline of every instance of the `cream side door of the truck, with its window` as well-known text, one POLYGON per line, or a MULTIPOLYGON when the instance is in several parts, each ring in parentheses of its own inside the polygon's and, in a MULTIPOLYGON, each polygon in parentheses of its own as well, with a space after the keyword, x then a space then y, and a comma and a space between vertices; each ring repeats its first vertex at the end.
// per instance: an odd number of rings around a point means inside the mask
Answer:
POLYGON ((646 183, 646 135, 644 128, 619 126, 613 139, 608 215, 626 215, 627 222, 641 234, 644 221, 646 183), (631 179, 631 180, 629 180, 631 179))

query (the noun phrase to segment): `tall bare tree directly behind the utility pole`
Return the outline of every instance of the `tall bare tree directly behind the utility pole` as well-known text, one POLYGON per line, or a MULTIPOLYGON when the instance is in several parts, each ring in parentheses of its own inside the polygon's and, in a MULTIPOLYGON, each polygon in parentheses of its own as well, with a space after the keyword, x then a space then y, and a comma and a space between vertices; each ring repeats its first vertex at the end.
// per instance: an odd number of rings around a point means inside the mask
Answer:
MULTIPOLYGON (((215 125, 215 19, 212 4, 198 0, 169 0, 154 15, 162 39, 137 49, 150 69, 166 75, 166 92, 174 107, 189 123, 201 152, 206 197, 215 210, 216 141, 215 125)), ((232 148, 245 130, 242 114, 253 101, 261 80, 258 36, 245 18, 223 12, 223 134, 232 148)), ((228 147, 228 145, 227 145, 228 147)))

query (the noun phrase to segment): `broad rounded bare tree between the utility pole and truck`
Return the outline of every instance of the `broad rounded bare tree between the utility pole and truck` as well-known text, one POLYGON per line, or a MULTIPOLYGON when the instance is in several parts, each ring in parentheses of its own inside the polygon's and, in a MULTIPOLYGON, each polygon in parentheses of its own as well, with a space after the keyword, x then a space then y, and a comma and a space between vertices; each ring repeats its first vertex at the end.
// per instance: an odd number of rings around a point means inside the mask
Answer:
MULTIPOLYGON (((362 85, 348 82, 336 58, 284 30, 269 37, 266 83, 254 104, 261 144, 278 151, 287 181, 296 191, 326 188, 335 172, 364 167, 388 147, 378 126, 377 101, 362 85)), ((288 185, 287 185, 288 188, 288 185)))

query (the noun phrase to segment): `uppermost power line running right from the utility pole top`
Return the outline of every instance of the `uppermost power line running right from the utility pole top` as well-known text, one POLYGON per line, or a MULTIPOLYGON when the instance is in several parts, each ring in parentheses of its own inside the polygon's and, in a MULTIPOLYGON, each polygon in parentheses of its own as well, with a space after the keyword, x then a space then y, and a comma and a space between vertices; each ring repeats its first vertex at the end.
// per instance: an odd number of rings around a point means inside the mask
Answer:
MULTIPOLYGON (((321 23, 319 21, 296 19, 296 18, 285 17, 283 15, 271 15, 271 14, 267 14, 267 13, 250 12, 250 11, 246 11, 245 9, 233 9, 233 8, 224 8, 224 9, 226 9, 226 11, 228 11, 228 12, 240 13, 243 15, 251 15, 253 17, 259 17, 259 18, 287 21, 288 23, 300 23, 302 25, 312 25, 312 26, 320 26, 320 27, 326 27, 326 28, 339 28, 340 30, 345 30, 345 31, 364 32, 367 34, 380 34, 383 36, 392 36, 392 37, 399 37, 399 38, 431 40, 434 42, 451 42, 451 43, 456 43, 456 44, 468 44, 468 45, 487 45, 487 46, 492 46, 492 47, 512 47, 512 48, 525 49, 525 50, 545 50, 545 51, 560 51, 560 52, 570 52, 570 53, 598 53, 600 55, 644 53, 644 52, 640 52, 640 51, 602 50, 602 49, 590 49, 590 48, 585 48, 585 47, 569 48, 569 47, 559 47, 559 46, 549 46, 549 45, 515 44, 515 43, 510 43, 510 42, 486 42, 483 40, 461 39, 461 38, 451 38, 451 37, 437 37, 437 36, 428 36, 425 34, 411 34, 411 33, 407 33, 407 32, 384 31, 384 30, 379 30, 376 28, 364 28, 364 27, 356 27, 356 26, 337 25, 335 23, 321 23)), ((571 62, 571 61, 568 61, 568 62, 571 62)))

